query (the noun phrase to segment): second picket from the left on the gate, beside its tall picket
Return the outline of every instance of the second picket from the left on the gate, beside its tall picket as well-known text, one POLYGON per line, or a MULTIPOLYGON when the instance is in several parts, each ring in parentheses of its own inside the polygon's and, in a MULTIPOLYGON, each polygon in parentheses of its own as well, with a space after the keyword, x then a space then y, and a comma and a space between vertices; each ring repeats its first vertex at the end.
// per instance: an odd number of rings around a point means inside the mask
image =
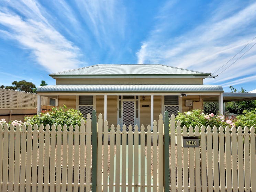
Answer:
POLYGON ((108 191, 108 121, 104 121, 103 139, 103 191, 108 191))

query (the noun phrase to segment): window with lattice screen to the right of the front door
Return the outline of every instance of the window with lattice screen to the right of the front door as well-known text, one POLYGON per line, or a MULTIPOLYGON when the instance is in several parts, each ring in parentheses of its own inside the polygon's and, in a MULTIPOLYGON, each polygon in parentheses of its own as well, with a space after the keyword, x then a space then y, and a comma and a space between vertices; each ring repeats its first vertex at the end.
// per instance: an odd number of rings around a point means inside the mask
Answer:
POLYGON ((178 95, 165 95, 164 111, 168 111, 169 118, 171 117, 172 113, 175 116, 178 115, 178 111, 179 111, 179 96, 178 95))

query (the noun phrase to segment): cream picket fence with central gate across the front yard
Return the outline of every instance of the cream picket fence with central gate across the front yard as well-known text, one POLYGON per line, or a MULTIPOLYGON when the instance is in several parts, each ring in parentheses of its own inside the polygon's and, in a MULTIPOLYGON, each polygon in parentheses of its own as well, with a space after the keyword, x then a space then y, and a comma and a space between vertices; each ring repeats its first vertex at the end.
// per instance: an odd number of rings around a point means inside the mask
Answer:
POLYGON ((172 115, 170 133, 164 134, 160 114, 153 132, 149 125, 146 131, 143 125, 141 131, 135 126, 134 132, 132 126, 128 132, 122 127, 121 132, 120 126, 114 131, 111 125, 109 132, 101 114, 97 127, 96 118, 90 117, 86 124, 76 125, 75 131, 73 126, 67 131, 67 126, 0 124, 0 192, 256 191, 254 127, 187 129, 180 122, 175 124, 172 115), (97 131, 96 139, 93 131, 97 131), (164 143, 165 136, 170 143, 164 143), (182 147, 182 136, 200 137, 200 147, 182 147), (166 158, 168 167, 164 167, 166 158))

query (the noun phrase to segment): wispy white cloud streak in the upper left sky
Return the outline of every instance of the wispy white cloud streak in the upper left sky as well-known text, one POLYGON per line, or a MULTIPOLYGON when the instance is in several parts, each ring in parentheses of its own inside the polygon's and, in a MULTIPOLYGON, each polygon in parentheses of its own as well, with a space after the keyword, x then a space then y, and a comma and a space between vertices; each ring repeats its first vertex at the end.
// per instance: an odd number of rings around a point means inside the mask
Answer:
POLYGON ((21 48, 31 50, 38 64, 49 72, 79 67, 80 49, 49 24, 41 10, 44 9, 36 1, 8 3, 0 11, 0 24, 5 27, 0 31, 2 37, 14 39, 21 48))

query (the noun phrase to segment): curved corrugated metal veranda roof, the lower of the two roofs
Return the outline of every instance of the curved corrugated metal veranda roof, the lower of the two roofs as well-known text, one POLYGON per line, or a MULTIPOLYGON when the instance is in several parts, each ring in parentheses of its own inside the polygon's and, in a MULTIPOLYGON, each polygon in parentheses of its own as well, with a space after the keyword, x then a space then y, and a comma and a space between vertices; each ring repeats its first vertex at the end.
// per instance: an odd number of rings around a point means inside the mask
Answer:
POLYGON ((216 85, 51 85, 37 92, 223 92, 216 85))

